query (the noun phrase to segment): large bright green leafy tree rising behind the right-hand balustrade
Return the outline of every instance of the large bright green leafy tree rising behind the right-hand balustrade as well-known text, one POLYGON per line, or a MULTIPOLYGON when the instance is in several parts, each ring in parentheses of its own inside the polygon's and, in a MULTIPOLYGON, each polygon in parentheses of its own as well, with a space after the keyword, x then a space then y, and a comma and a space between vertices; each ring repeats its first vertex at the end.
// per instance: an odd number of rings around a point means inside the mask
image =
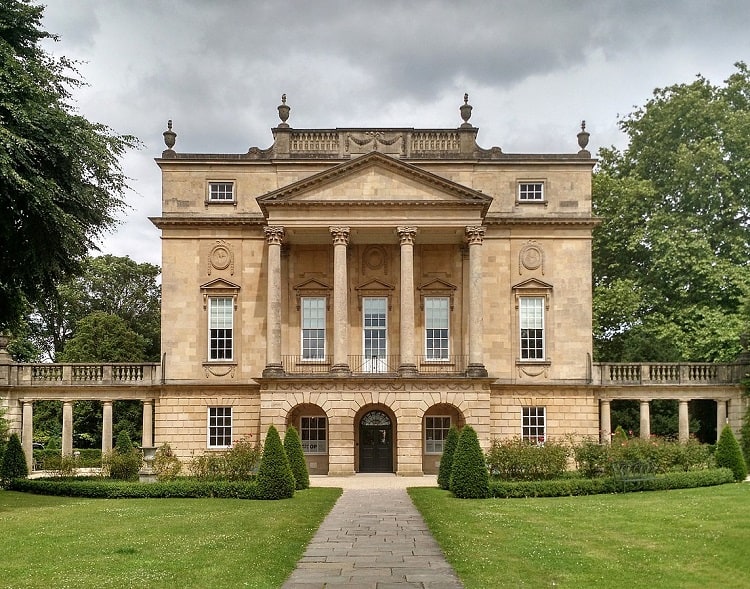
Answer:
POLYGON ((597 359, 731 361, 750 293, 750 73, 657 89, 594 178, 597 359))

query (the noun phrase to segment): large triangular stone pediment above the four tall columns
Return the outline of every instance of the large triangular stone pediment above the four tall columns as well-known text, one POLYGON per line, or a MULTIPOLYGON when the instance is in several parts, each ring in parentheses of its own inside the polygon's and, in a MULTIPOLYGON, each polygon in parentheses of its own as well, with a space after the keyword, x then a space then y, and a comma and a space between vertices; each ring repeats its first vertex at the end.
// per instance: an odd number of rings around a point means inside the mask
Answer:
POLYGON ((479 208, 492 199, 401 160, 372 152, 257 198, 264 214, 278 206, 413 204, 479 208))

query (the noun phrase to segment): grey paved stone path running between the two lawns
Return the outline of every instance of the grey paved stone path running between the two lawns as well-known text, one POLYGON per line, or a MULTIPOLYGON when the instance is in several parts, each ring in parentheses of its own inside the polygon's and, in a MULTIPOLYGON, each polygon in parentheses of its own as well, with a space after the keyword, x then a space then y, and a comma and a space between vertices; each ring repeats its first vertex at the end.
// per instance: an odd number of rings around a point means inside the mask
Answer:
POLYGON ((462 589, 463 585, 405 489, 349 488, 282 589, 330 587, 462 589))

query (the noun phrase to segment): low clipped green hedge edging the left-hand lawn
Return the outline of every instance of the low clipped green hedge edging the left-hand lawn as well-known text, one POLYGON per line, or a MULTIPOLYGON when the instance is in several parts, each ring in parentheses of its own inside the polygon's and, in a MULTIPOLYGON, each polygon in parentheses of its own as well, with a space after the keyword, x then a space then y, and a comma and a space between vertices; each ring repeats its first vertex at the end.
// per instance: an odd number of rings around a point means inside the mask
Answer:
POLYGON ((260 499, 255 481, 174 480, 156 483, 103 479, 15 479, 11 491, 91 499, 260 499))

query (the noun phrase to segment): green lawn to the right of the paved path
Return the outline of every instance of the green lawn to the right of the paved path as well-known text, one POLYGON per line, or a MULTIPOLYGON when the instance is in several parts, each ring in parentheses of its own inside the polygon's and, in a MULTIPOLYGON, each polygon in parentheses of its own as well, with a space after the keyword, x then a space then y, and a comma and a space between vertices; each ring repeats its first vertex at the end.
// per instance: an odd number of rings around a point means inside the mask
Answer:
POLYGON ((750 587, 750 484, 548 499, 409 494, 466 589, 750 587))

